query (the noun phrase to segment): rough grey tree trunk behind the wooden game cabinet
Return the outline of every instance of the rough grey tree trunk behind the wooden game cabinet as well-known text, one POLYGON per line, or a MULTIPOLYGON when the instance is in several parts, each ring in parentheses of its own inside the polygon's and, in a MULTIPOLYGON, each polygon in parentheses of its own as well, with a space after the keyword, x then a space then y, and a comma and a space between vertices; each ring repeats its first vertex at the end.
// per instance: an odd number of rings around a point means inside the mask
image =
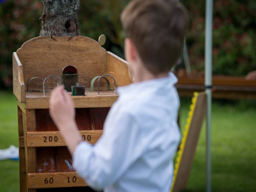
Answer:
POLYGON ((42 0, 40 36, 78 36, 80 0, 42 0))

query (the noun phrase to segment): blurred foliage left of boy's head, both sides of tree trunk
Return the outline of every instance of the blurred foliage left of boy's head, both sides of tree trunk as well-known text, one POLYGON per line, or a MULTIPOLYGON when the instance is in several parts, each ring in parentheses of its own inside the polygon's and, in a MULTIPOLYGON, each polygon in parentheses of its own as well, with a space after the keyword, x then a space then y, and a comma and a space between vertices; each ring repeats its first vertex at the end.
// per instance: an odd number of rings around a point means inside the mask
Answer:
MULTIPOLYGON (((107 37, 104 48, 123 55, 124 33, 120 13, 129 0, 80 0, 81 35, 98 40, 107 37)), ((27 40, 39 36, 42 4, 39 0, 0 2, 0 88, 12 86, 12 52, 27 40)))

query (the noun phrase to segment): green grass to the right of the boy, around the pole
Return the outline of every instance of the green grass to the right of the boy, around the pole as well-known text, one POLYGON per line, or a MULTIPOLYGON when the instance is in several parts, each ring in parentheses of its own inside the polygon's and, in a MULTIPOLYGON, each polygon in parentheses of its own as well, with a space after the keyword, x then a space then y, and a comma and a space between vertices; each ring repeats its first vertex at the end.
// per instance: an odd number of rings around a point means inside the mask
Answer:
MULTIPOLYGON (((212 105, 212 191, 256 191, 256 101, 212 105)), ((189 103, 181 101, 184 130, 189 103)), ((185 192, 205 191, 205 123, 185 192)))

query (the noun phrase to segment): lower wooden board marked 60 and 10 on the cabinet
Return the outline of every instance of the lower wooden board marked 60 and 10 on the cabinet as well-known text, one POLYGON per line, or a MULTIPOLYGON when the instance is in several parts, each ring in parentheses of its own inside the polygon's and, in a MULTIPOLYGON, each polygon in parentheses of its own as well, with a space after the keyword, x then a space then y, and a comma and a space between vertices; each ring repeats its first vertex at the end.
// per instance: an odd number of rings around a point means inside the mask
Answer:
POLYGON ((28 188, 62 188, 88 186, 76 172, 29 173, 28 188))

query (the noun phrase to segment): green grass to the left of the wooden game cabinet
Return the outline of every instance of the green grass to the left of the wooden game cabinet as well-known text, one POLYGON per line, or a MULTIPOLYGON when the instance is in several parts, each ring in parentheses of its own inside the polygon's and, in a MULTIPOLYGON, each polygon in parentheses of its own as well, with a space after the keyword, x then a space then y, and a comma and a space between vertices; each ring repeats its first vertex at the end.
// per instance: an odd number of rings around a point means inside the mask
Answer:
MULTIPOLYGON (((0 91, 0 149, 18 146, 18 116, 16 98, 9 92, 0 91)), ((19 191, 19 162, 0 161, 0 191, 19 191)))

